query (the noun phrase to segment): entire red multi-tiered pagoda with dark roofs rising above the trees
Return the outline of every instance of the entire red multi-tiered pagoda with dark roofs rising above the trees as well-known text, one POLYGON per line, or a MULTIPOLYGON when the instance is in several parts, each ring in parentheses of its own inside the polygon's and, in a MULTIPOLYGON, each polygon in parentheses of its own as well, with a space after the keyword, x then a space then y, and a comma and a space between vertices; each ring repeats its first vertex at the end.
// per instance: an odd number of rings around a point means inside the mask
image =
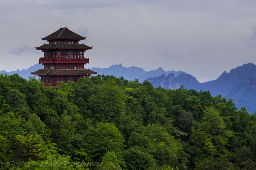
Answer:
POLYGON ((97 74, 84 68, 84 64, 89 63, 89 58, 84 57, 84 52, 92 47, 79 44, 79 41, 85 40, 67 27, 60 28, 58 31, 42 38, 49 44, 36 47, 37 50, 44 52, 44 57, 39 59, 39 63, 44 65, 44 69, 37 70, 31 74, 39 76, 39 81, 44 86, 59 85, 60 81, 77 81, 79 78, 97 74))

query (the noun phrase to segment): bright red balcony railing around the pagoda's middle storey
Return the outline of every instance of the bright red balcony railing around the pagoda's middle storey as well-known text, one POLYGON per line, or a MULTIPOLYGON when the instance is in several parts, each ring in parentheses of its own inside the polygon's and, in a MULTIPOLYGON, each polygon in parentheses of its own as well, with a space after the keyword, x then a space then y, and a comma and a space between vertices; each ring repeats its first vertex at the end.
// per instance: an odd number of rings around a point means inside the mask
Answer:
POLYGON ((89 63, 89 58, 40 58, 39 64, 89 63))

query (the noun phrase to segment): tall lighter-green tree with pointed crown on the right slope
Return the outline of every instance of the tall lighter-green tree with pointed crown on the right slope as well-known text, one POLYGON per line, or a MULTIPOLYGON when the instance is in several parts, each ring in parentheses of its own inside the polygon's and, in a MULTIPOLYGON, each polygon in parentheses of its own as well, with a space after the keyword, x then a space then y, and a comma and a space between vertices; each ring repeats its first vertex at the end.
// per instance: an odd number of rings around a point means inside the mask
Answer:
POLYGON ((213 159, 215 153, 227 154, 226 146, 231 135, 216 109, 206 107, 202 121, 194 122, 190 136, 189 150, 195 163, 213 159))

